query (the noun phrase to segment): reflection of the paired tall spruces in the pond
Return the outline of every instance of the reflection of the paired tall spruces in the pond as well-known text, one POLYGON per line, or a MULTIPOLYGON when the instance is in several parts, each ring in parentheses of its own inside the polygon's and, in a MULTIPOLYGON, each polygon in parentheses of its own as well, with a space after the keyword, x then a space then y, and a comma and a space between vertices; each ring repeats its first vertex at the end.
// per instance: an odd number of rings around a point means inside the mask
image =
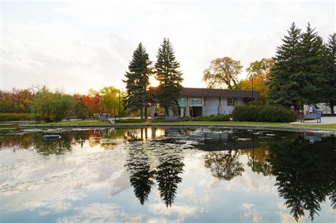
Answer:
POLYGON ((125 165, 130 173, 130 184, 133 186, 135 197, 143 205, 148 200, 155 181, 158 185, 159 195, 167 207, 172 206, 176 198, 178 184, 182 178, 184 164, 181 161, 179 144, 152 142, 149 147, 145 143, 134 142, 128 149, 128 161, 125 165), (151 154, 152 159, 149 159, 151 154), (153 159, 157 165, 151 164, 153 159))

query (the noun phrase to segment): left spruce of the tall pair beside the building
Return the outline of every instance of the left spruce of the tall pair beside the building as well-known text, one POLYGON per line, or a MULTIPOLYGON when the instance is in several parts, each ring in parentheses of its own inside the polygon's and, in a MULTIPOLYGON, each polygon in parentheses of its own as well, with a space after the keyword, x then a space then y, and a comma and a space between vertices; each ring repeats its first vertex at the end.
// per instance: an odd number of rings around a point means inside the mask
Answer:
POLYGON ((138 45, 138 48, 133 52, 132 60, 128 66, 129 72, 126 72, 126 79, 123 82, 126 84, 125 108, 130 110, 140 110, 142 118, 142 109, 145 108, 145 118, 147 118, 147 103, 150 98, 147 91, 150 85, 150 59, 142 46, 142 43, 138 45))

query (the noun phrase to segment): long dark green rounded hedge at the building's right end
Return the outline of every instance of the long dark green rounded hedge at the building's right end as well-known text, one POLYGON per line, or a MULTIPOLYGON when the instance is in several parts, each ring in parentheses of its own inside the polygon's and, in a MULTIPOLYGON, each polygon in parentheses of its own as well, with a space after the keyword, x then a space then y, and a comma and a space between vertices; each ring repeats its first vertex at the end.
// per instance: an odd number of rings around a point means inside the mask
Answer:
POLYGON ((292 110, 271 105, 240 105, 233 110, 233 120, 240 122, 294 122, 298 115, 292 110))

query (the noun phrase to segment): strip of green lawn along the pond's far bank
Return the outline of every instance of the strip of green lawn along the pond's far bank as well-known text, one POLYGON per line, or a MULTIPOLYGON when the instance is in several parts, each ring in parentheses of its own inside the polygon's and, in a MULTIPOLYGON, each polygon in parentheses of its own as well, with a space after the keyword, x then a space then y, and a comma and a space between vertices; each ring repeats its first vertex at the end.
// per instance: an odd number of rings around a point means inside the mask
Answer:
MULTIPOLYGON (((109 122, 102 122, 99 120, 74 120, 62 121, 52 123, 32 123, 28 125, 33 126, 50 126, 50 125, 111 125, 109 122)), ((260 125, 260 126, 281 126, 281 127, 310 127, 320 129, 336 129, 336 124, 330 125, 291 125, 286 122, 209 122, 209 121, 191 121, 191 122, 152 122, 147 120, 145 122, 118 122, 116 125, 260 125)), ((113 125, 111 125, 113 126, 113 125)))

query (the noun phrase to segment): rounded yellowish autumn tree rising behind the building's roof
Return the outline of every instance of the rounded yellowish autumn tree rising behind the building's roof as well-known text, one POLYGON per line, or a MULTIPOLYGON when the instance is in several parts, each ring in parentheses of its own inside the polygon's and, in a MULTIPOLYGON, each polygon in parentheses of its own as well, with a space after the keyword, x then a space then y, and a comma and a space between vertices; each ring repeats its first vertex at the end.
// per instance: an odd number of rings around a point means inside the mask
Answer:
POLYGON ((231 57, 217 58, 203 72, 203 82, 208 88, 238 88, 238 75, 242 72, 240 61, 231 57))

